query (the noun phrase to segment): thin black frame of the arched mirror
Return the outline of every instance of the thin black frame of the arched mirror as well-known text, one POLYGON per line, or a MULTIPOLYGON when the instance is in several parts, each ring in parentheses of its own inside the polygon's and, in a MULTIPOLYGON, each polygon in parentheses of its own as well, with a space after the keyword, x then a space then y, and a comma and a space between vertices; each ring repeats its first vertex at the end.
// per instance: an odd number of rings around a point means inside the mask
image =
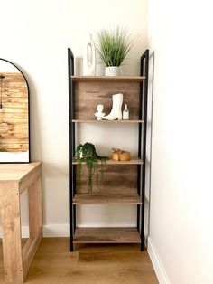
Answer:
MULTIPOLYGON (((28 161, 26 162, 0 162, 0 164, 29 164, 31 163, 31 131, 30 131, 30 88, 29 88, 29 84, 28 81, 26 80, 26 77, 23 74, 23 71, 21 71, 21 69, 19 67, 17 67, 13 62, 10 62, 4 58, 0 58, 0 61, 4 61, 4 62, 8 62, 10 64, 12 64, 18 71, 20 71, 20 73, 23 75, 23 79, 26 82, 27 85, 27 92, 28 92, 28 143, 29 143, 29 156, 28 156, 28 161)), ((1 71, 0 71, 1 72, 1 71)))

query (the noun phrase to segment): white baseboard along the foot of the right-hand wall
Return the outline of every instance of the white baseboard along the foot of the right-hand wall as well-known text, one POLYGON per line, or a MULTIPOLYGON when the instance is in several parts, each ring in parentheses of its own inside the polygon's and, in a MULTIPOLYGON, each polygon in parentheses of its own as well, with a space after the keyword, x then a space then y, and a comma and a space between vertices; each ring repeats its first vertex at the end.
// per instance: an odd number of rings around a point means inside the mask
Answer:
POLYGON ((168 279, 165 270, 162 266, 162 262, 159 259, 159 256, 157 254, 157 251, 153 245, 152 239, 148 238, 148 249, 147 249, 150 259, 153 263, 153 269, 157 275, 157 279, 160 284, 171 284, 170 280, 168 279))

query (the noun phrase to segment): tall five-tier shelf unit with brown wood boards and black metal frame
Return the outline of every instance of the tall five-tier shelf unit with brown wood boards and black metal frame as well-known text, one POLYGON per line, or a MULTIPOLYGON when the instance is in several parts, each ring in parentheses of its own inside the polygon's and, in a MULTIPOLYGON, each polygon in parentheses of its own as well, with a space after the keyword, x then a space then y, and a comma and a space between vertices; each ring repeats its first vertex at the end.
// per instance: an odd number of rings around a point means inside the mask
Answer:
MULTIPOLYGON (((140 243, 144 250, 144 188, 148 95, 149 51, 141 59, 140 76, 74 76, 74 56, 68 49, 69 71, 69 202, 70 251, 74 243, 140 243), (100 120, 93 109, 103 101, 105 112, 111 109, 112 94, 121 92, 130 109, 130 120, 100 120), (73 156, 76 149, 76 125, 137 124, 137 156, 130 161, 106 161, 104 181, 88 194, 86 186, 77 193, 76 166, 73 156), (113 178, 112 178, 113 176, 113 178), (137 206, 137 223, 134 228, 78 228, 76 206, 84 204, 134 204, 137 206)), ((82 185, 87 184, 86 166, 82 163, 82 185)))

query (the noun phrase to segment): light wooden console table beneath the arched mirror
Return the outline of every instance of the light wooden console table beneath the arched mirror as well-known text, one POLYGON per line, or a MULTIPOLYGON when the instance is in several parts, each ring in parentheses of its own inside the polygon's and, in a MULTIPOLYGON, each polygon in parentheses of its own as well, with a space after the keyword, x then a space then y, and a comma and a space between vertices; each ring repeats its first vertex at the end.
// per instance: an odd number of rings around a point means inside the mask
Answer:
POLYGON ((42 163, 0 165, 5 282, 23 283, 42 240, 42 163), (22 246, 20 194, 28 189, 29 239, 22 246))

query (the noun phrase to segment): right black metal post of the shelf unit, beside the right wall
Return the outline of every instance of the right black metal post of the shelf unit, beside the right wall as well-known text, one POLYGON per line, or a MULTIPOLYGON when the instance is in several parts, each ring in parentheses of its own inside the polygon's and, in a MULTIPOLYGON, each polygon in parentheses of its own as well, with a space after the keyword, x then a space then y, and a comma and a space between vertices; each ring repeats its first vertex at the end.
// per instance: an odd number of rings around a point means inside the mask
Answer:
POLYGON ((143 81, 143 165, 142 165, 142 208, 141 208, 141 251, 144 251, 144 201, 145 201, 145 166, 146 166, 146 129, 147 129, 147 103, 148 103, 148 76, 149 76, 149 50, 146 50, 141 57, 141 76, 143 81))

